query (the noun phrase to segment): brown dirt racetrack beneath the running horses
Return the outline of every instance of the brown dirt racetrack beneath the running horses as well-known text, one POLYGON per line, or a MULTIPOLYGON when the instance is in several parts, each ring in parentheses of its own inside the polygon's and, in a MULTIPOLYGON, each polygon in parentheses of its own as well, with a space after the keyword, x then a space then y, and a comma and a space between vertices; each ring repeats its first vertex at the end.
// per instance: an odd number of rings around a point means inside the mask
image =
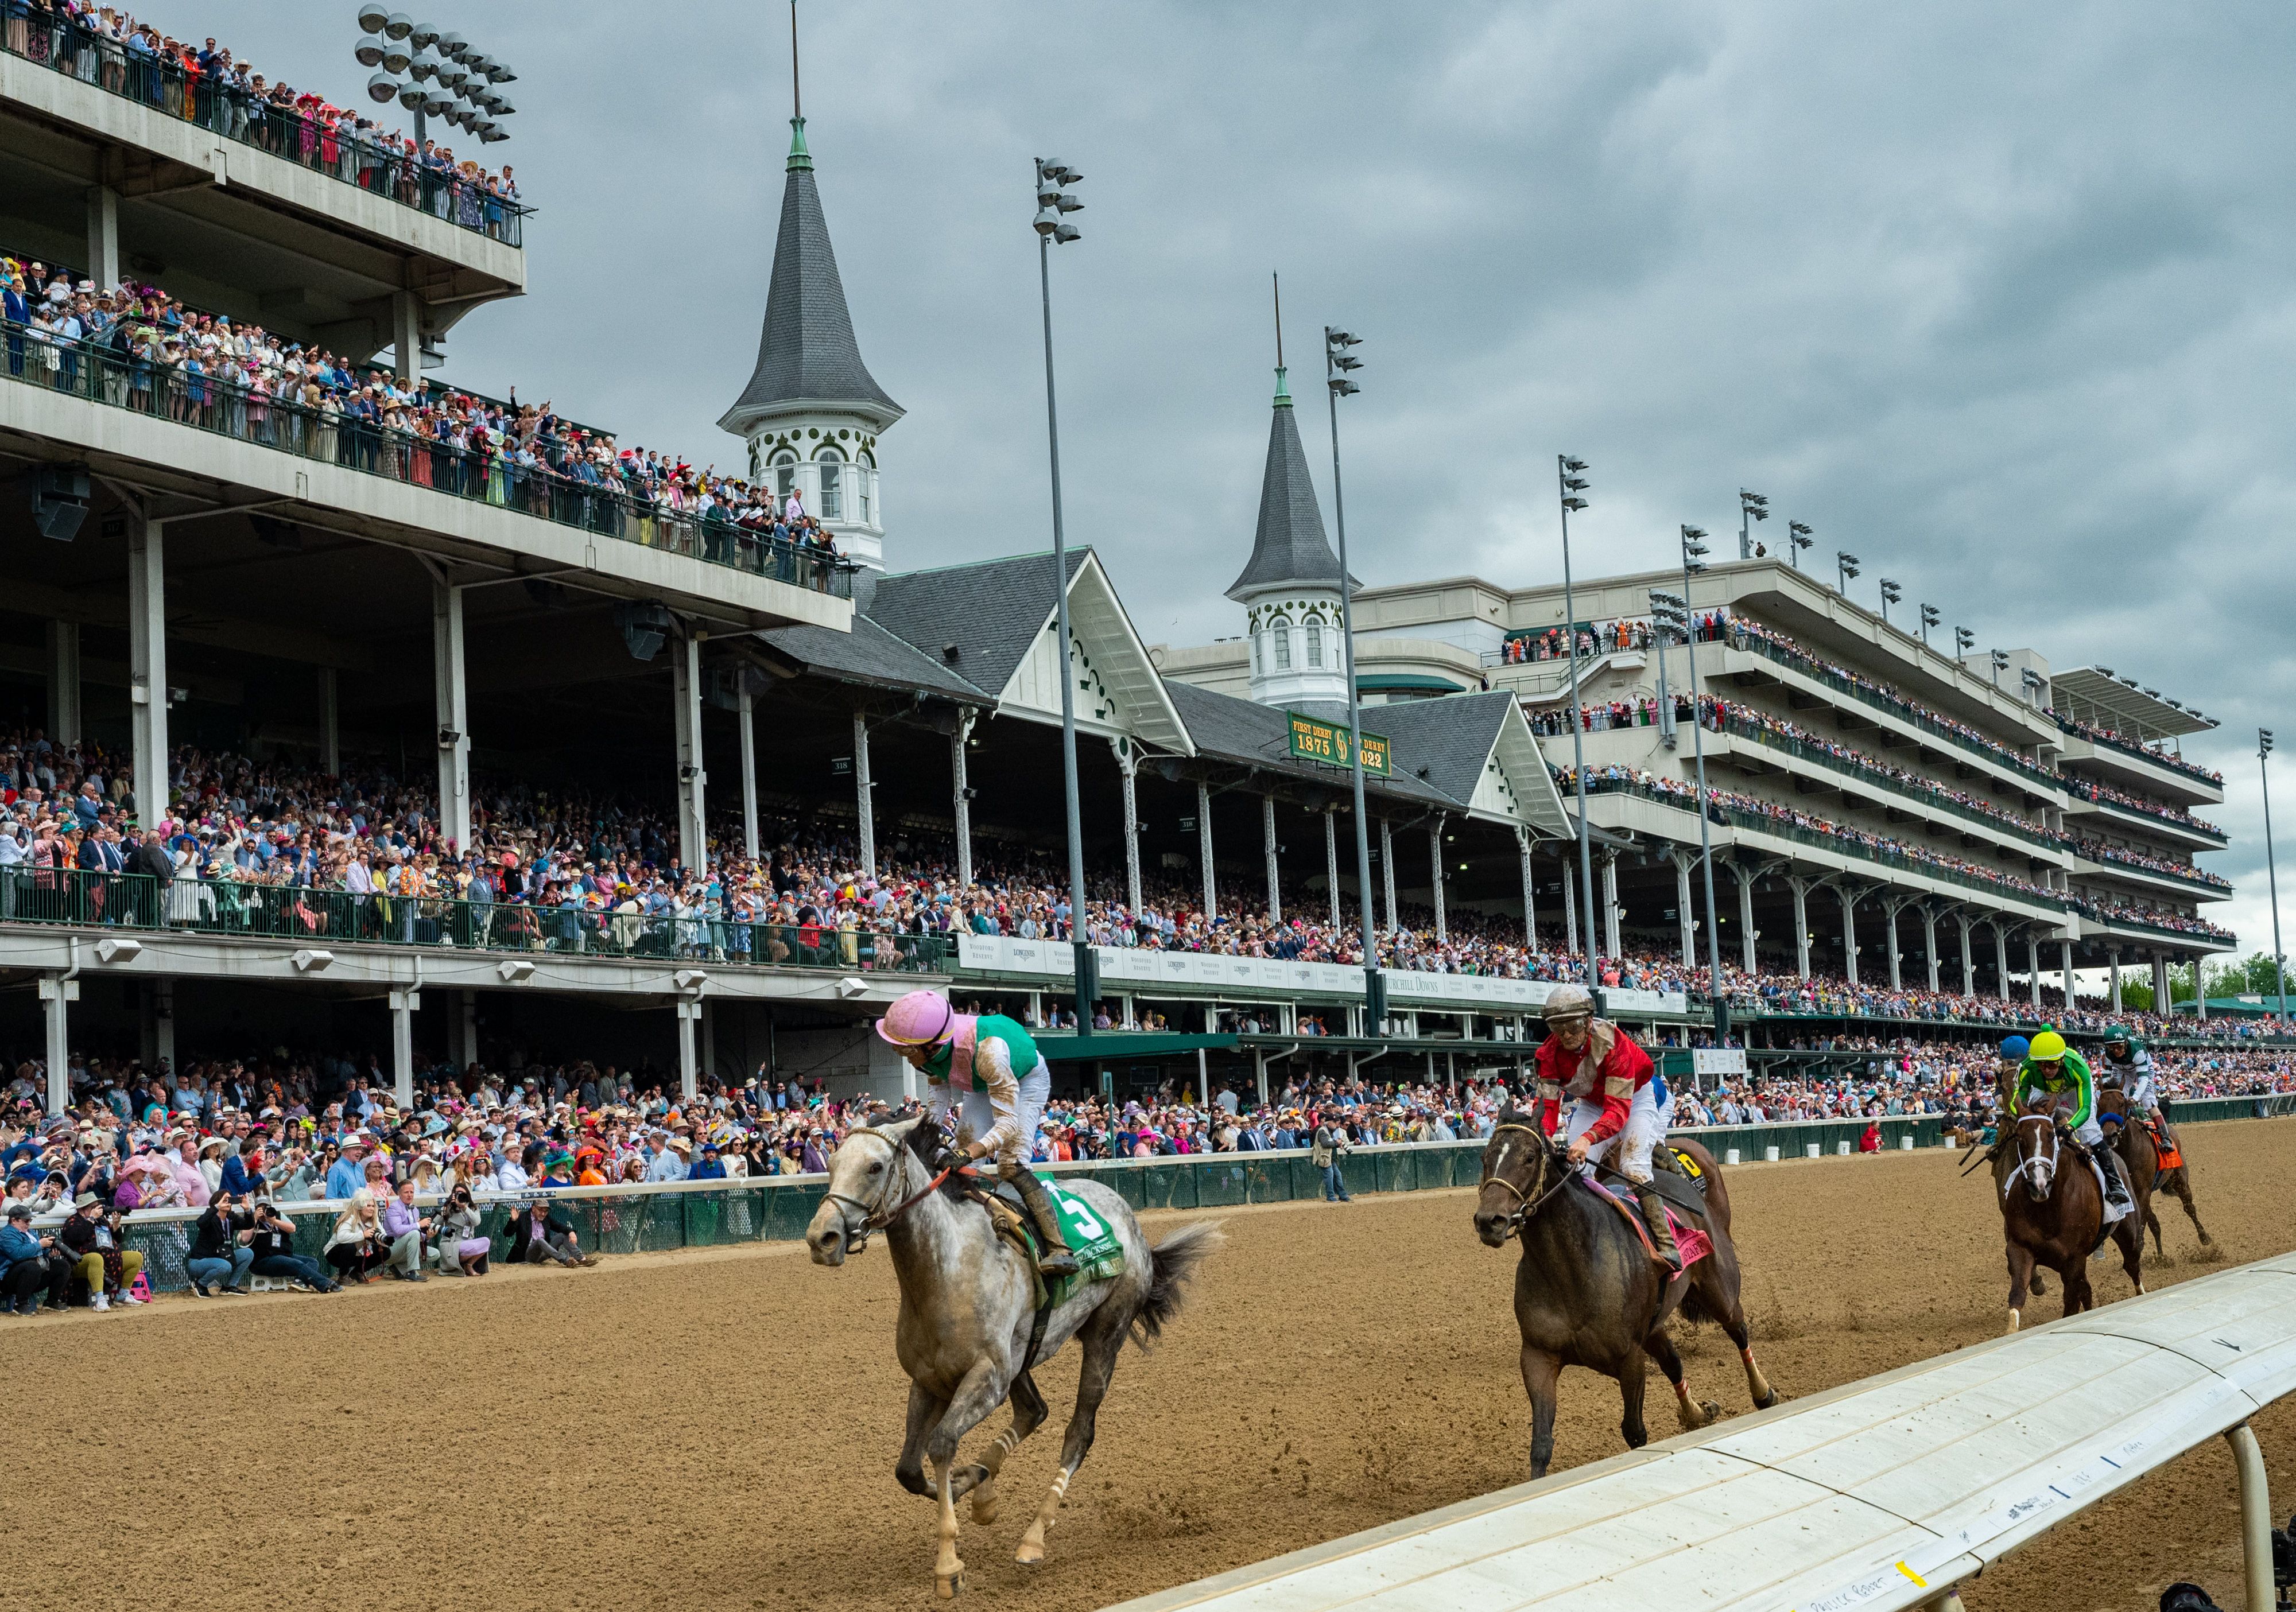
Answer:
MULTIPOLYGON (((2195 1127, 2188 1146, 2223 1263, 2296 1242, 2296 1121, 2195 1127)), ((1731 1194, 1756 1350, 1784 1394, 2000 1332, 2000 1222, 1949 1153, 1747 1167, 1731 1194)), ((1054 1470, 1072 1355, 1040 1371, 1054 1421, 1006 1467, 1003 1518, 967 1522, 960 1605, 1102 1607, 1522 1481, 1515 1254, 1483 1249, 1467 1215, 1467 1192, 1228 1212, 1192 1311, 1155 1355, 1125 1353, 1031 1573, 1013 1548, 1054 1470)), ((2220 1268, 2193 1258, 2174 1206, 2163 1226, 2172 1263, 2149 1281, 2220 1268)), ((2096 1284, 2128 1295, 2105 1261, 2096 1284)), ((882 1251, 831 1272, 767 1247, 0 1320, 9 1603, 928 1605, 932 1511, 893 1483, 893 1309, 882 1251)), ((2053 1293, 2039 1318, 2055 1313, 2053 1293)), ((1694 1392, 1747 1408, 1717 1332, 1685 1355, 1694 1392)), ((1616 1454, 1616 1424, 1612 1385, 1568 1373, 1557 1470, 1616 1454)), ((1655 1373, 1651 1431, 1671 1433, 1655 1373)), ((2285 1513, 2296 1410, 2257 1433, 2285 1513)), ((2197 1578, 2229 1605, 2234 1536, 2213 1442, 1968 1603, 2133 1612, 2197 1578)))

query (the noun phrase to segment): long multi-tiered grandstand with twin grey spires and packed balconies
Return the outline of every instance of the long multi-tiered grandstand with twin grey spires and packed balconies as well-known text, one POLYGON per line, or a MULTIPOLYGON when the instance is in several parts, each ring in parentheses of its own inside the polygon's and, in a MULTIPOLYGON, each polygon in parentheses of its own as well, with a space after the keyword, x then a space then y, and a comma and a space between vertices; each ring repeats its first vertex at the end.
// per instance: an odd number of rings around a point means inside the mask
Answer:
MULTIPOLYGON (((1063 1079, 1518 1063, 1577 969, 1559 590, 1359 590, 1387 767, 1355 889, 1345 772, 1316 753, 1343 721, 1341 574, 1281 372, 1231 588, 1249 645, 1143 643, 1134 560, 1091 549, 1058 579, 1063 645, 1049 556, 900 565, 902 409, 861 358, 804 119, 721 418, 748 475, 707 478, 707 450, 501 402, 519 377, 427 374, 526 289, 496 181, 335 145, 331 110, 250 133, 69 32, 0 51, 0 969, 32 987, 0 1031, 51 1102, 76 1056, 257 1043, 374 1056, 402 1100, 418 1063, 572 1056, 891 1091, 866 1020, 939 981, 1058 1029, 1061 677, 1102 1008, 1171 1031, 1056 1047, 1063 1079)), ((1690 746, 1646 638, 1667 581, 1582 588, 1589 817, 1612 1010, 1688 1043, 1711 1006, 1690 746)), ((2158 749, 2181 707, 2101 671, 2055 705, 1993 687, 1777 563, 1717 567, 1692 606, 1717 921, 1756 1015, 1981 1038, 2078 1017, 2076 967, 2149 962, 2165 997, 2172 960, 2229 946, 2193 863, 2223 836, 2188 811, 2220 788, 2158 749), (1924 976, 1956 1006, 1869 997, 1924 976), (2011 976, 2016 1015, 1986 1006, 2011 976), (1777 994, 1802 981, 1823 990, 1777 994)))

